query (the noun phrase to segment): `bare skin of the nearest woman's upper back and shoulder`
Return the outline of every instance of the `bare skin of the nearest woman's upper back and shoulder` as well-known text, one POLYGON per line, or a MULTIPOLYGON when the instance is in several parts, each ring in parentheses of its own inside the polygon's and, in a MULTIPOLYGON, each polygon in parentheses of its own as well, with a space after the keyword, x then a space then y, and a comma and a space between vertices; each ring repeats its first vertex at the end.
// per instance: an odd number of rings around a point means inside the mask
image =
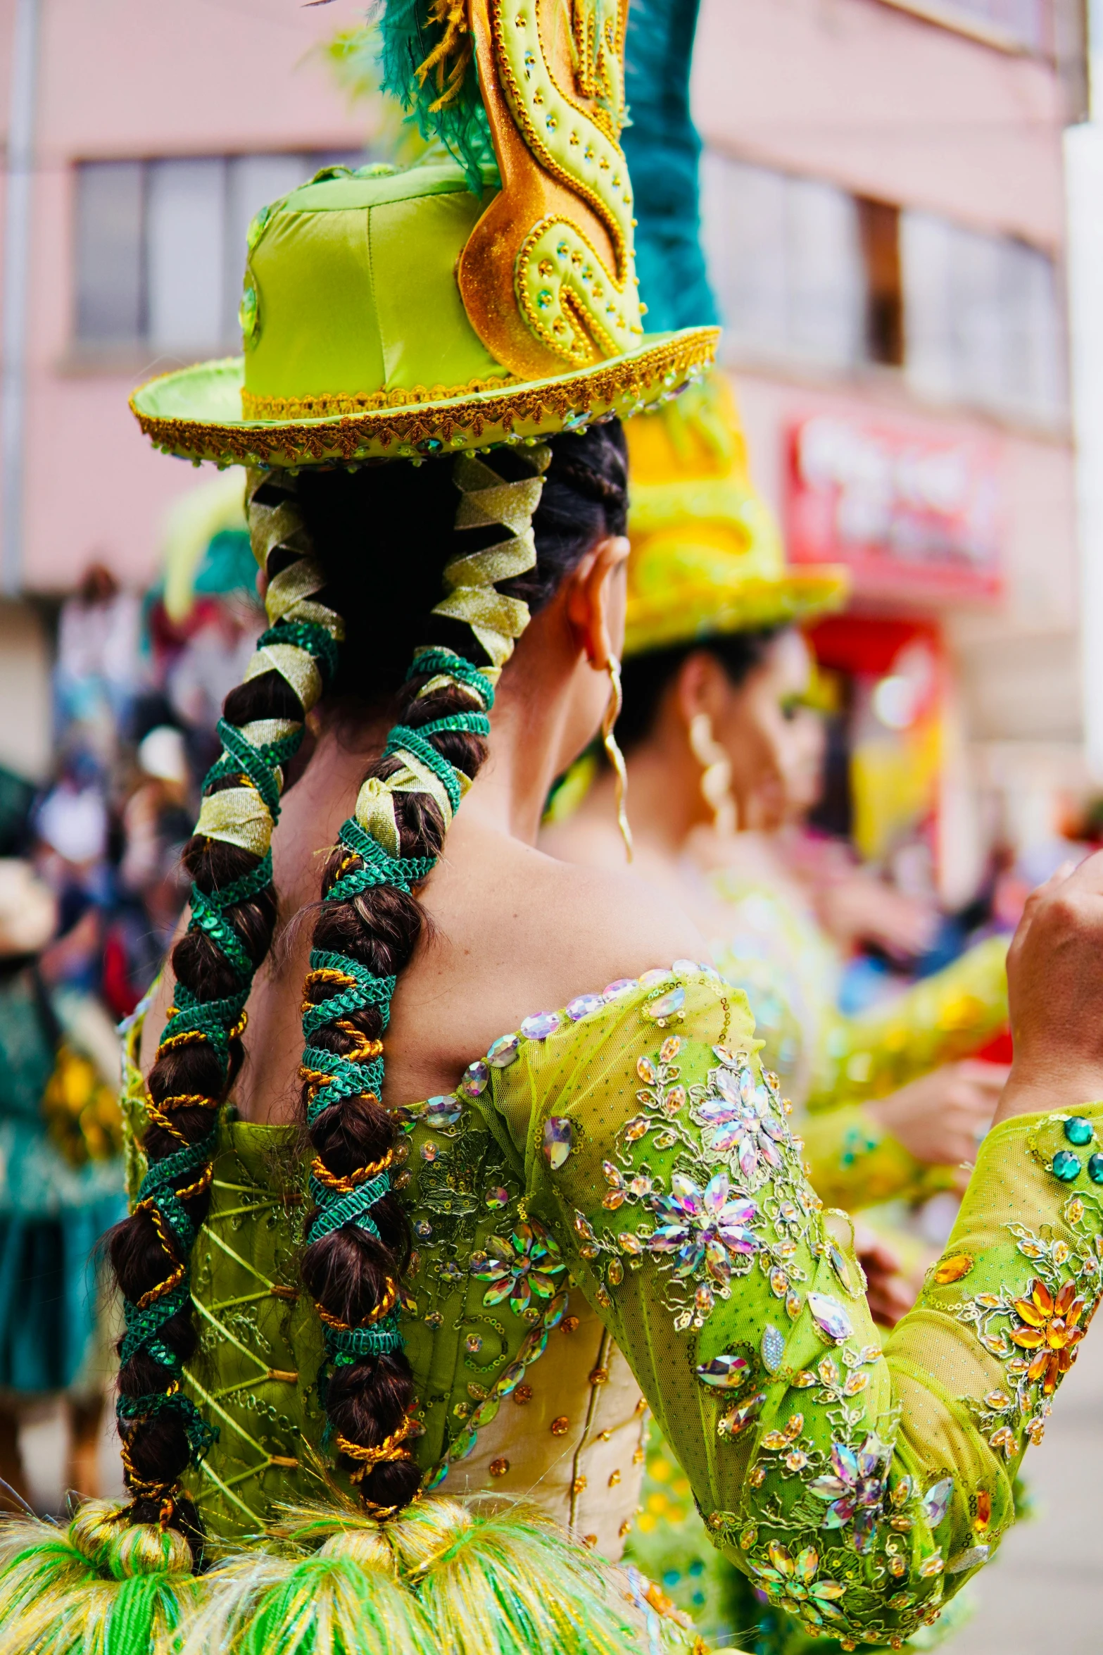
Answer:
MULTIPOLYGON (((369 756, 327 730, 286 793, 273 836, 281 917, 246 1006, 246 1058, 233 1091, 245 1120, 299 1119, 303 981, 321 867, 352 813, 369 756)), ((544 856, 508 831, 508 813, 491 758, 422 890, 427 923, 395 990, 387 1033, 389 1106, 448 1091, 471 1056, 532 1013, 617 976, 706 958, 673 900, 627 871, 544 856)), ((144 1067, 169 1001, 165 973, 147 1018, 144 1067)))

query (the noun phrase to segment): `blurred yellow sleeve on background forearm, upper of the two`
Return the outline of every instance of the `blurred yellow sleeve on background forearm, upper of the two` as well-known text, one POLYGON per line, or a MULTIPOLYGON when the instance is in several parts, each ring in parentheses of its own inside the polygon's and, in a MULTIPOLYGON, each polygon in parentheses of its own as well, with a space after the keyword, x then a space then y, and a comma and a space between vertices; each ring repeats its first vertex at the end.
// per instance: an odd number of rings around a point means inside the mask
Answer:
POLYGON ((991 937, 857 1018, 833 1013, 820 1036, 810 1111, 886 1097, 943 1063, 967 1058, 1007 1023, 1007 940, 991 937))

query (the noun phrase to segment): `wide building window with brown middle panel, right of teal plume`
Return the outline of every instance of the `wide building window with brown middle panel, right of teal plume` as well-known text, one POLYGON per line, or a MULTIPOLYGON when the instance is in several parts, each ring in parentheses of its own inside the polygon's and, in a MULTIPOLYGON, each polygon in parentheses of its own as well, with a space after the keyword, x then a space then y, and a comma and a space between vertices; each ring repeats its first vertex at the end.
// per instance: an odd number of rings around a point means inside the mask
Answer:
POLYGON ((714 152, 701 182, 729 361, 875 362, 939 402, 1065 417, 1060 283, 1040 248, 714 152))

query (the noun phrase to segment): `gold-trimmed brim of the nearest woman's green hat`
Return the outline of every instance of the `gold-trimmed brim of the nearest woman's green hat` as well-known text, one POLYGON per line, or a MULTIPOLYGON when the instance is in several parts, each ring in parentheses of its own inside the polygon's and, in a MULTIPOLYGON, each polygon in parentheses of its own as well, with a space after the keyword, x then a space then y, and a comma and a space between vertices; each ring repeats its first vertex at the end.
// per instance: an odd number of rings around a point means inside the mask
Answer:
POLYGON ((657 407, 713 361, 718 339, 718 328, 685 328, 552 379, 289 420, 241 417, 245 359, 236 356, 150 379, 134 392, 131 409, 159 449, 195 463, 298 467, 461 452, 657 407))

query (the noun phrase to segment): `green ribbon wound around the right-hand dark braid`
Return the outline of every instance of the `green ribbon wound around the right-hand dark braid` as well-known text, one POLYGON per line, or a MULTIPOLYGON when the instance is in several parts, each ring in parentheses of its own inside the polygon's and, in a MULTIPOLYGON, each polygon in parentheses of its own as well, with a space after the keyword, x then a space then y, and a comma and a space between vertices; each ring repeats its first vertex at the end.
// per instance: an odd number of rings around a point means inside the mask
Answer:
MULTIPOLYGON (((486 679, 478 667, 465 660, 461 655, 453 655, 450 650, 430 649, 418 652, 407 674, 407 682, 413 677, 422 677, 423 674, 438 674, 440 677, 450 679, 463 688, 471 690, 480 698, 485 710, 451 713, 446 718, 435 718, 430 723, 420 725, 417 730, 410 725, 395 725, 387 736, 384 758, 407 753, 418 760, 440 780, 455 811, 463 798, 466 778, 460 776, 455 765, 438 753, 428 738, 432 735, 443 735, 445 732, 486 738, 489 735, 489 718, 486 717, 486 712, 494 705, 494 690, 489 679, 486 679)), ((361 857, 362 867, 354 872, 342 874, 337 880, 334 880, 326 892, 327 902, 347 902, 351 897, 359 895, 361 890, 367 890, 375 885, 394 885, 397 890, 408 894, 413 885, 428 879, 428 874, 437 866, 437 857, 390 856, 390 852, 372 837, 372 834, 365 832, 356 818, 349 818, 349 821, 344 823, 339 842, 352 856, 361 857)), ((327 1076, 326 1082, 314 1091, 308 1104, 308 1122, 314 1122, 322 1109, 329 1109, 342 1097, 364 1097, 367 1094, 382 1097, 382 1058, 369 1058, 362 1061, 342 1058, 336 1053, 314 1046, 313 1039, 319 1029, 329 1028, 341 1018, 347 1018, 352 1011, 359 1011, 369 1005, 379 1010, 380 1026, 385 1029, 390 1021, 390 1000, 395 991, 394 976, 375 976, 359 960, 347 958, 342 953, 314 950, 314 953, 311 953, 311 971, 318 970, 341 971, 342 975, 352 978, 354 983, 352 986, 331 995, 327 1000, 321 1000, 316 1005, 308 1006, 303 1015, 303 1034, 308 1041, 306 1051, 303 1053, 303 1067, 313 1074, 327 1076)), ((374 1178, 346 1192, 332 1190, 329 1185, 322 1183, 321 1178, 313 1175, 311 1197, 318 1211, 311 1221, 308 1241, 319 1241, 322 1236, 331 1235, 334 1230, 341 1230, 349 1223, 357 1225, 361 1230, 367 1230, 369 1235, 379 1236, 370 1208, 375 1202, 382 1200, 389 1190, 389 1172, 380 1172, 374 1178)), ((334 1367, 356 1362, 364 1355, 385 1355, 392 1350, 400 1350, 403 1341, 399 1329, 399 1312, 397 1309, 390 1311, 370 1327, 341 1329, 326 1326, 324 1341, 327 1360, 334 1367)))

